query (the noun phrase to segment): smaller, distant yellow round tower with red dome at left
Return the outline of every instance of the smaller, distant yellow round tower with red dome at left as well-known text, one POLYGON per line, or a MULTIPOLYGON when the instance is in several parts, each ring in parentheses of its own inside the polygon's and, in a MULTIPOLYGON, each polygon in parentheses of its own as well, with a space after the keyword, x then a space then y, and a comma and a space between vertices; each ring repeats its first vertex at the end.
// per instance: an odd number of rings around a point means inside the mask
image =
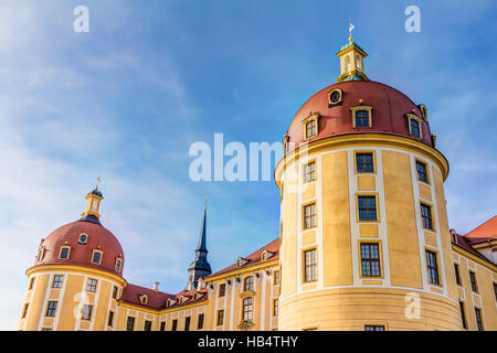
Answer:
POLYGON ((103 194, 86 195, 82 217, 46 238, 34 266, 27 270, 28 292, 19 330, 99 330, 114 320, 116 301, 126 281, 124 253, 99 221, 103 194))

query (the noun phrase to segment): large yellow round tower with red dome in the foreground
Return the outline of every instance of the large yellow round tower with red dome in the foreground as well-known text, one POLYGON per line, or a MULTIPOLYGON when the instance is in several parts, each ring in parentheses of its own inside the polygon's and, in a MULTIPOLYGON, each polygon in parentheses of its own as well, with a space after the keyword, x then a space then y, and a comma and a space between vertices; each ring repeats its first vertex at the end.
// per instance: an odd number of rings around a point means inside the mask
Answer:
POLYGON ((340 47, 276 165, 279 330, 461 330, 444 181, 427 109, 340 47))

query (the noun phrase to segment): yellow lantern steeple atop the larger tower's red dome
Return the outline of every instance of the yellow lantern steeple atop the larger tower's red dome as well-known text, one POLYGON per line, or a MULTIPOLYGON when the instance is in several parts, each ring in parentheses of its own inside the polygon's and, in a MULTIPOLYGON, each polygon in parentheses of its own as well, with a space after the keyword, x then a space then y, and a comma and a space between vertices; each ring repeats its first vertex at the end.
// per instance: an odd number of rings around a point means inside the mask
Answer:
POLYGON ((368 54, 353 41, 353 28, 350 21, 349 42, 341 46, 337 53, 337 56, 340 58, 340 76, 338 76, 337 82, 369 81, 364 74, 364 57, 368 54))

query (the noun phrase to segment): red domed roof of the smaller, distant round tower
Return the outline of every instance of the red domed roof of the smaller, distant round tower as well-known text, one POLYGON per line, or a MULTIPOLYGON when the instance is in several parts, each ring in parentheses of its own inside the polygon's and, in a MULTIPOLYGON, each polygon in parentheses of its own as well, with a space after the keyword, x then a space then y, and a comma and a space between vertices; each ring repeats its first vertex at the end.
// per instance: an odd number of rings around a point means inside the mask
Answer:
POLYGON ((77 265, 92 267, 121 276, 124 267, 124 253, 117 238, 98 221, 76 221, 53 231, 41 244, 44 249, 43 258, 38 265, 77 265), (80 244, 80 235, 87 235, 86 244, 80 244), (70 246, 67 259, 60 259, 62 246, 70 246), (92 263, 93 250, 102 250, 101 264, 92 263), (116 258, 121 258, 120 271, 116 271, 116 258))

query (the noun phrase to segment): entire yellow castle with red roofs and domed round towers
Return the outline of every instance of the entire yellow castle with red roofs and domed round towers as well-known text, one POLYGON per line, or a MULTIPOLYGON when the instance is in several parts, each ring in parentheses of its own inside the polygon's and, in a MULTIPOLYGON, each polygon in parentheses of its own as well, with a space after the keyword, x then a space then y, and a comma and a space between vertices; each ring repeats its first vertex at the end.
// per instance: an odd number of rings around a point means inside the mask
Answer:
POLYGON ((371 82, 351 35, 337 56, 284 137, 278 238, 212 272, 205 208, 184 290, 135 286, 95 188, 42 239, 18 330, 497 330, 497 216, 451 229, 427 108, 371 82))

